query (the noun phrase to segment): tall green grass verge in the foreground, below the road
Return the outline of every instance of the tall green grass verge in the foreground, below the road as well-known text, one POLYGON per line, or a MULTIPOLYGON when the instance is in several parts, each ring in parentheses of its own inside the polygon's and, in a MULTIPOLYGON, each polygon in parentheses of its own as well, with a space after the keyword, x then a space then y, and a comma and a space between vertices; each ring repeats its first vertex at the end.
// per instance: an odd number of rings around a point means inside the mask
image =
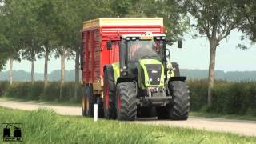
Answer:
POLYGON ((0 107, 0 122, 22 122, 26 143, 256 143, 256 137, 149 126, 80 116, 62 116, 52 110, 23 111, 0 107))

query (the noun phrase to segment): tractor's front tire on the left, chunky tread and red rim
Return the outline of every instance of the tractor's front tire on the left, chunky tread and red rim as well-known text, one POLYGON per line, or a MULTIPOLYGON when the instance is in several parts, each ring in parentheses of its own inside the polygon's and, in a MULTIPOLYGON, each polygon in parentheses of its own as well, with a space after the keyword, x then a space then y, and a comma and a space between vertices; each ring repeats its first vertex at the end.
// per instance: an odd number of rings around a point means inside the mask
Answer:
POLYGON ((121 82, 117 86, 116 110, 117 119, 134 121, 137 116, 136 84, 121 82))

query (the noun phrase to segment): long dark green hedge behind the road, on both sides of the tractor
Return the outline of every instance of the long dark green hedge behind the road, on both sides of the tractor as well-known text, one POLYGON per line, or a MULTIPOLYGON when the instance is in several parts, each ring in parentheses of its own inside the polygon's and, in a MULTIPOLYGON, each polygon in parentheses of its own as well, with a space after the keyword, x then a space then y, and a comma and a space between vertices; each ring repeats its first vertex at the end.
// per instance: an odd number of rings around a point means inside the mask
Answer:
MULTIPOLYGON (((213 105, 207 107, 207 81, 190 80, 190 110, 218 114, 256 115, 256 82, 215 81, 213 105)), ((74 102, 74 82, 65 82, 61 102, 74 102)), ((60 83, 49 82, 44 89, 43 82, 0 82, 0 96, 59 102, 60 83)), ((78 87, 78 96, 82 86, 78 87)), ((80 98, 78 98, 79 102, 80 98)))

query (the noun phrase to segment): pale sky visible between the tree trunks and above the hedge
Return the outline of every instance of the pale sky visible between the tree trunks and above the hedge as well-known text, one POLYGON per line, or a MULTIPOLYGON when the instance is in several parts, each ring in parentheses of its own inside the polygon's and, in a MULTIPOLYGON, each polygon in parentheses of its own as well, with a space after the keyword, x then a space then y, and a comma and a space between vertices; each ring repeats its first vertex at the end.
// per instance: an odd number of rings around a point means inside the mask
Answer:
MULTIPOLYGON (((256 70, 256 45, 251 46, 248 50, 240 50, 236 46, 240 41, 242 34, 238 31, 231 32, 230 36, 223 39, 217 48, 215 70, 224 71, 252 71, 256 70)), ((208 70, 210 58, 210 46, 206 38, 192 39, 189 34, 184 36, 183 48, 178 49, 177 43, 170 46, 171 62, 178 62, 181 69, 199 69, 208 70)), ((49 73, 53 70, 61 69, 60 58, 50 58, 49 73)), ((74 60, 66 60, 66 70, 74 69, 74 60)), ((6 69, 9 70, 9 62, 6 69)), ((30 71, 30 62, 22 60, 22 62, 14 62, 14 70, 30 71)), ((43 73, 44 59, 35 62, 34 71, 43 73)))

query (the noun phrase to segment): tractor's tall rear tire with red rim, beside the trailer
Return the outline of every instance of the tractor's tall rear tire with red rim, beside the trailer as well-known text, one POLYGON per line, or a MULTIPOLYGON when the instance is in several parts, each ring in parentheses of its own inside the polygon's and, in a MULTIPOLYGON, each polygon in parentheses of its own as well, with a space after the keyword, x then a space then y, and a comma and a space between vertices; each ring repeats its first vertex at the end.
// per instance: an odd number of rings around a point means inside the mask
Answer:
POLYGON ((104 71, 104 86, 103 86, 103 109, 104 117, 107 119, 115 118, 115 85, 114 75, 110 69, 104 71))

